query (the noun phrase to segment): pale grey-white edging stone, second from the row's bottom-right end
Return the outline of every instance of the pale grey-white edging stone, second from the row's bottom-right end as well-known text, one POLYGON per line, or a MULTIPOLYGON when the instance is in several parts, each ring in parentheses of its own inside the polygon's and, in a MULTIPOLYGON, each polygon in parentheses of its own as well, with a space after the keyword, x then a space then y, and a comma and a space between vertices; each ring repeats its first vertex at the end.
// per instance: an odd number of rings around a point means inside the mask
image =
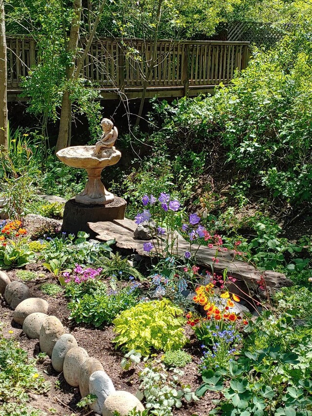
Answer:
POLYGON ((89 378, 90 394, 98 396, 98 398, 90 404, 90 409, 95 413, 101 414, 104 401, 113 393, 116 393, 113 381, 105 373, 105 371, 96 371, 89 378))

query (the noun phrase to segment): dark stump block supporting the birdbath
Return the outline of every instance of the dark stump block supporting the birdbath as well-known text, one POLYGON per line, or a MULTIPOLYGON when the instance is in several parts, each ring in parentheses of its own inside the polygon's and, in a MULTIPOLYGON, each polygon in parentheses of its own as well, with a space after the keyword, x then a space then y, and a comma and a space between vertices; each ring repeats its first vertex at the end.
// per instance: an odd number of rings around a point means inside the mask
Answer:
POLYGON ((75 198, 70 199, 65 204, 62 231, 75 235, 78 231, 85 231, 95 238, 97 234, 88 227, 87 222, 124 219, 126 206, 127 202, 118 197, 106 205, 86 205, 76 202, 75 198))

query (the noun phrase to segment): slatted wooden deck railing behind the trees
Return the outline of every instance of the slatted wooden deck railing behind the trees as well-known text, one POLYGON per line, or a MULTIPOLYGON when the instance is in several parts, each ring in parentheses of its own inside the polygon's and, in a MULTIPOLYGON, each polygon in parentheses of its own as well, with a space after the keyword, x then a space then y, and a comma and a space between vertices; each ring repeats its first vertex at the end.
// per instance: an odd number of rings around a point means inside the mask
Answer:
MULTIPOLYGON (((183 95, 195 95, 193 89, 205 92, 220 82, 228 84, 236 68, 246 68, 248 45, 248 42, 159 40, 156 63, 147 79, 148 88, 176 89, 183 95)), ((36 66, 39 57, 36 41, 31 38, 8 36, 7 46, 8 90, 13 93, 22 88, 23 77, 29 68, 36 66)), ((146 79, 153 48, 153 42, 144 40, 96 39, 85 59, 83 76, 103 91, 138 93, 146 79)))

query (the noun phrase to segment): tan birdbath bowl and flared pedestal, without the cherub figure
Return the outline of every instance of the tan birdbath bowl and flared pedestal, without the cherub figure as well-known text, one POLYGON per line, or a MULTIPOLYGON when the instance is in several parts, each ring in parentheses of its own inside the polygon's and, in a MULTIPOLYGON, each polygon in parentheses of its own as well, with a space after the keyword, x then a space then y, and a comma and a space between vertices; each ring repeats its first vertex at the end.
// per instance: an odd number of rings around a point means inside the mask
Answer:
POLYGON ((101 172, 105 167, 115 165, 121 158, 121 153, 113 146, 103 149, 99 156, 94 156, 95 148, 96 146, 67 147, 59 150, 57 157, 65 165, 85 169, 88 173, 88 182, 84 190, 76 195, 76 202, 105 205, 114 200, 114 195, 105 189, 101 172))

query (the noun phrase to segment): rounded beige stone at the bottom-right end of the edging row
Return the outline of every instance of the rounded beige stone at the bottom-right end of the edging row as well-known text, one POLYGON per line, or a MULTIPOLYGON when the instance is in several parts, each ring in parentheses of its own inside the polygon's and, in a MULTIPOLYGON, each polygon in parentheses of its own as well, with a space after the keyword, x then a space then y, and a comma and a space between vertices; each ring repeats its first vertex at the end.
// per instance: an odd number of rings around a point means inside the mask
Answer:
POLYGON ((144 410, 144 406, 136 396, 123 390, 117 390, 105 400, 102 415, 113 416, 114 412, 118 412, 120 416, 127 416, 134 408, 140 412, 144 410))

